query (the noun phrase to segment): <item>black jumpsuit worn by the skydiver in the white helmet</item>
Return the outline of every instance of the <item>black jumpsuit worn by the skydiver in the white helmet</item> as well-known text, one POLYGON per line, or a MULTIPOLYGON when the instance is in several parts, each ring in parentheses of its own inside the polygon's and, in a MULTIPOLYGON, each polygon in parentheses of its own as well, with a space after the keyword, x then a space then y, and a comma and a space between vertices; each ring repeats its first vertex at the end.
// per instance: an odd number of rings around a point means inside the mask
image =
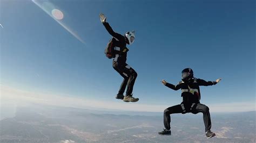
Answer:
POLYGON ((124 78, 118 94, 123 95, 127 85, 126 95, 131 95, 137 73, 126 63, 126 56, 129 49, 126 47, 125 37, 121 34, 114 32, 109 23, 105 22, 103 23, 103 25, 105 26, 107 32, 109 32, 110 35, 112 35, 112 37, 116 39, 116 41, 114 42, 115 57, 113 59, 112 66, 124 78))

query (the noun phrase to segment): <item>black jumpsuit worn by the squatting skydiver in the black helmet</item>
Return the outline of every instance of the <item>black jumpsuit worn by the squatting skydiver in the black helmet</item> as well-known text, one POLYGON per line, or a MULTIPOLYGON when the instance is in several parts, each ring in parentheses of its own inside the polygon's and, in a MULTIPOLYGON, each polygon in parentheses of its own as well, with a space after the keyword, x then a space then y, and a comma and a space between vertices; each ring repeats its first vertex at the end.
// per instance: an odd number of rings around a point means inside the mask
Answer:
POLYGON ((181 89, 183 97, 183 102, 181 104, 171 106, 164 110, 164 126, 167 130, 170 130, 171 117, 172 113, 188 113, 197 114, 199 112, 203 113, 205 132, 211 130, 211 117, 209 108, 200 104, 200 89, 199 86, 208 86, 215 85, 217 82, 204 81, 199 78, 192 78, 190 82, 179 82, 177 85, 166 83, 166 87, 169 87, 173 90, 181 89))

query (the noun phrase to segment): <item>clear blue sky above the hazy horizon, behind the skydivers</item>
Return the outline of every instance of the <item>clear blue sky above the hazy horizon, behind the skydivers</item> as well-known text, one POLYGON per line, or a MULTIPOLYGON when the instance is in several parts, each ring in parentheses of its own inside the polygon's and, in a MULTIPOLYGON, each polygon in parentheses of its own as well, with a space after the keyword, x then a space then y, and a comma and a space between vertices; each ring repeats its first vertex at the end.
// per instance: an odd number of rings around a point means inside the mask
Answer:
POLYGON ((176 84, 187 67, 204 80, 223 78, 201 87, 201 103, 255 104, 255 1, 36 2, 64 18, 56 22, 32 1, 1 1, 2 85, 121 102, 114 95, 122 77, 104 55, 111 36, 100 23, 102 12, 114 31, 136 31, 127 63, 138 73, 138 104, 179 104, 180 91, 160 80, 176 84))

